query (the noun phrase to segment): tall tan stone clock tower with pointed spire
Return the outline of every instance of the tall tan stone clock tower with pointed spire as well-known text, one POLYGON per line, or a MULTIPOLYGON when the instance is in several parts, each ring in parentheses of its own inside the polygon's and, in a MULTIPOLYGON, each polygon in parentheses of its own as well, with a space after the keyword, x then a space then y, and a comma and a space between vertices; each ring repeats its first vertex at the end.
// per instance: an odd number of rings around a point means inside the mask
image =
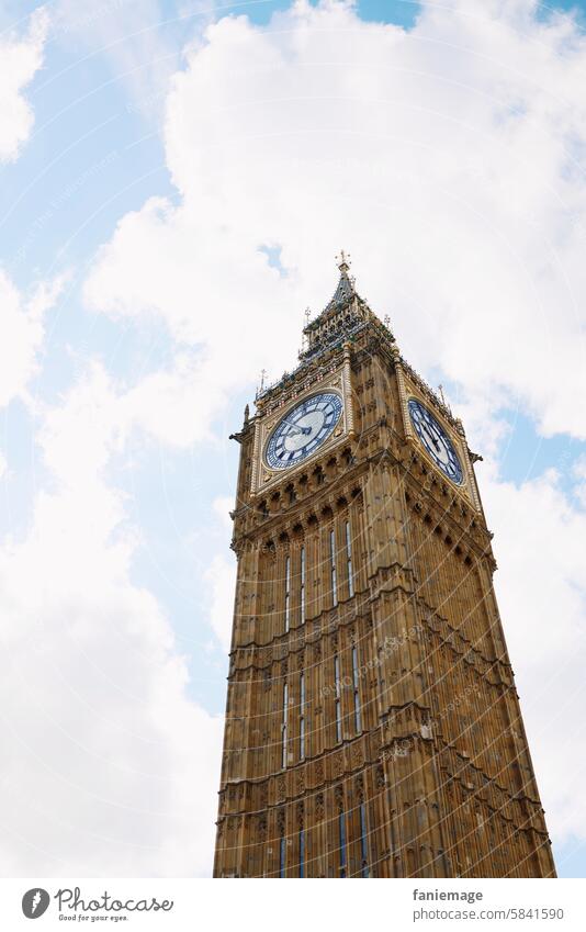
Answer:
POLYGON ((214 876, 554 877, 478 457, 339 270, 234 435, 214 876))

